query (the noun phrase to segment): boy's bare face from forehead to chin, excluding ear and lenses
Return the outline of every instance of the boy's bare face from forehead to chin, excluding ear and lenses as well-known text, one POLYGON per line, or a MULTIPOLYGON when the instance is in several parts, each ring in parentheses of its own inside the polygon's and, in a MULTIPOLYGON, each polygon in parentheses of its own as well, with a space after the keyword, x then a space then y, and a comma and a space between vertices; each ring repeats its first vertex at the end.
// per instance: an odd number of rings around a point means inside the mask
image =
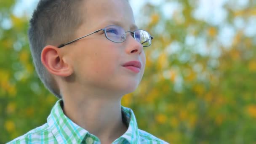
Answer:
MULTIPOLYGON (((83 5, 84 23, 77 30, 77 37, 108 25, 118 25, 132 32, 137 29, 132 9, 126 0, 86 0, 83 5)), ((65 49, 80 88, 126 94, 137 88, 144 73, 145 53, 131 33, 127 33, 123 43, 114 43, 100 31, 65 49), (129 61, 141 62, 140 72, 123 67, 129 61)))

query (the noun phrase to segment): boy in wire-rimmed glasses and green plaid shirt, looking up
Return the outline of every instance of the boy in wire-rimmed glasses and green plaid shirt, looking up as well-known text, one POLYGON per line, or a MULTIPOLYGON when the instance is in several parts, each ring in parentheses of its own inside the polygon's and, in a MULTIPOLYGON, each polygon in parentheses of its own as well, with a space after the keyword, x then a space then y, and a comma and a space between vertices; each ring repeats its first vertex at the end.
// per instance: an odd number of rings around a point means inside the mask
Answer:
POLYGON ((166 144, 120 105, 141 81, 152 40, 127 0, 40 0, 29 40, 40 80, 60 100, 47 123, 10 143, 166 144))

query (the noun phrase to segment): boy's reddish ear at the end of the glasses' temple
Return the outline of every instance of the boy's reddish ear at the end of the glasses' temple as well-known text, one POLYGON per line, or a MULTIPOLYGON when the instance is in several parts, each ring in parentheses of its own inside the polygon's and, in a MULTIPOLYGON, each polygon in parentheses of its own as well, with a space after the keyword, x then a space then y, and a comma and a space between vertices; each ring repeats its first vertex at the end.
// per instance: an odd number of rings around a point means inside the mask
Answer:
POLYGON ((67 77, 73 73, 71 64, 67 63, 61 56, 61 49, 47 45, 41 53, 41 61, 45 68, 53 75, 67 77))

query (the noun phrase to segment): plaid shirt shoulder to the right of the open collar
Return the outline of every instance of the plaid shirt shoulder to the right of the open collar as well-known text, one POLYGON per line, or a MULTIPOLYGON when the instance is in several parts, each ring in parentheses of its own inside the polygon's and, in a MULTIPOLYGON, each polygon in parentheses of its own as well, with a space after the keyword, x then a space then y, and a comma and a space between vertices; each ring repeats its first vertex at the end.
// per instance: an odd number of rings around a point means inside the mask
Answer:
POLYGON ((162 139, 159 139, 146 131, 143 131, 141 129, 139 129, 138 131, 139 131, 139 136, 142 144, 147 142, 148 143, 156 142, 156 144, 169 144, 168 142, 163 141, 162 139))

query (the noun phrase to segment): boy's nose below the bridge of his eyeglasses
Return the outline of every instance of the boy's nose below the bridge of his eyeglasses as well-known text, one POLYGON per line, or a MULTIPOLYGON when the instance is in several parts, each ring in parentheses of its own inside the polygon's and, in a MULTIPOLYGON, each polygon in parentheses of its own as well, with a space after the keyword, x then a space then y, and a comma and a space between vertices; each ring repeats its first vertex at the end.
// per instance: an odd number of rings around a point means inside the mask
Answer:
POLYGON ((128 54, 131 53, 139 53, 141 54, 141 52, 143 51, 143 46, 141 45, 141 43, 139 43, 137 40, 135 40, 135 38, 133 38, 132 35, 128 34, 126 37, 126 48, 125 48, 125 52, 128 54))

